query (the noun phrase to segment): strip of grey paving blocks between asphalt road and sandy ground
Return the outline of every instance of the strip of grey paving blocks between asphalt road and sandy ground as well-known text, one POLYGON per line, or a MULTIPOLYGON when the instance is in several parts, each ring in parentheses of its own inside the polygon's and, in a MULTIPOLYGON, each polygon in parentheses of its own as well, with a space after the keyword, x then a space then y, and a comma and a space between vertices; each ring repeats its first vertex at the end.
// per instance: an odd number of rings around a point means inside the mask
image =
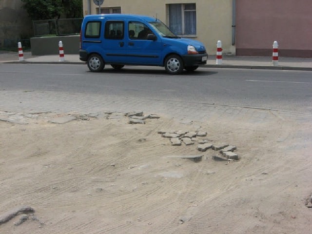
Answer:
POLYGON ((212 105, 160 99, 123 98, 105 95, 84 95, 39 91, 0 91, 0 111, 38 113, 74 112, 79 114, 95 112, 144 111, 174 117, 179 121, 231 121, 245 120, 250 123, 261 121, 292 120, 309 122, 312 115, 283 110, 265 110, 248 107, 212 105))

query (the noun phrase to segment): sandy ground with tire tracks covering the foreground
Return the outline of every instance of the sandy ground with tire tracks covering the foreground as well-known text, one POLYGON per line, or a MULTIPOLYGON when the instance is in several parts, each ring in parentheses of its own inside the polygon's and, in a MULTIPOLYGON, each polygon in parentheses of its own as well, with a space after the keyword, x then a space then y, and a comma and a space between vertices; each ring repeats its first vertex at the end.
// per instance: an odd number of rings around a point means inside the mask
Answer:
POLYGON ((1 234, 312 233, 311 121, 49 122, 60 116, 0 121, 0 216, 35 210, 19 226, 22 214, 1 224, 1 234), (159 130, 205 131, 196 138, 235 145, 241 159, 172 146, 159 130), (178 157, 192 155, 203 158, 178 157))

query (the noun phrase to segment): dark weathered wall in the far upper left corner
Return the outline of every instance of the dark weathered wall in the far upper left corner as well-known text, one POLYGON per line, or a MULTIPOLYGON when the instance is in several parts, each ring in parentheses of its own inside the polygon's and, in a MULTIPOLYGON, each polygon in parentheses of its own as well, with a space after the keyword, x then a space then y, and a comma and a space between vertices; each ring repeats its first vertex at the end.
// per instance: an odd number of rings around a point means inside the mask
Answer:
POLYGON ((32 22, 20 0, 0 0, 0 47, 4 45, 4 39, 17 40, 31 36, 31 27, 32 22))

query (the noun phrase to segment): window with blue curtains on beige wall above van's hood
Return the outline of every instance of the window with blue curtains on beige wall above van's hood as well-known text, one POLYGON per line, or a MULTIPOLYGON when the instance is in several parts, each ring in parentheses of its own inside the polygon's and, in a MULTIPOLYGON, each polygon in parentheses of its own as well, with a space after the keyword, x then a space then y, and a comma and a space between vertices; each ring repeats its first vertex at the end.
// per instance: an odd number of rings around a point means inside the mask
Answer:
POLYGON ((168 4, 169 28, 176 35, 196 35, 196 4, 168 4))

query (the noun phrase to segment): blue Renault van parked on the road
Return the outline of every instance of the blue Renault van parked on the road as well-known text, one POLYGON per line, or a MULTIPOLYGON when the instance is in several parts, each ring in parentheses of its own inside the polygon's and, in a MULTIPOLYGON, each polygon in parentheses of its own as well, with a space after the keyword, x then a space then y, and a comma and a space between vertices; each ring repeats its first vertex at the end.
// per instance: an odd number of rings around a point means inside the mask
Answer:
POLYGON ((169 74, 195 71, 206 64, 205 46, 177 37, 160 20, 140 15, 88 15, 81 25, 79 59, 92 72, 105 64, 165 67, 169 74))

